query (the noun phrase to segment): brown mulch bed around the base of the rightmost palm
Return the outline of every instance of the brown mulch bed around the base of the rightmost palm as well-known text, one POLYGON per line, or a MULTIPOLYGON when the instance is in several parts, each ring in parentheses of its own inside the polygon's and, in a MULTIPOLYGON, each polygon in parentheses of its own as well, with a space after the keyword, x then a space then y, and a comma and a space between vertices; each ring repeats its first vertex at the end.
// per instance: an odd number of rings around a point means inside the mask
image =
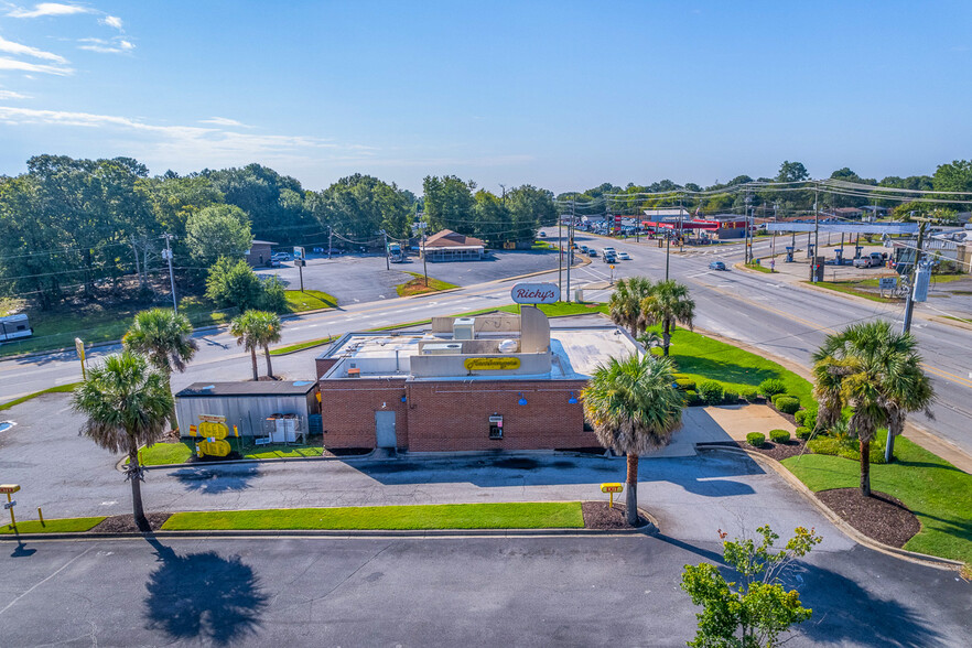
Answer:
POLYGON ((886 493, 873 490, 864 497, 857 488, 834 488, 817 497, 857 531, 892 547, 904 547, 921 530, 915 514, 886 493))

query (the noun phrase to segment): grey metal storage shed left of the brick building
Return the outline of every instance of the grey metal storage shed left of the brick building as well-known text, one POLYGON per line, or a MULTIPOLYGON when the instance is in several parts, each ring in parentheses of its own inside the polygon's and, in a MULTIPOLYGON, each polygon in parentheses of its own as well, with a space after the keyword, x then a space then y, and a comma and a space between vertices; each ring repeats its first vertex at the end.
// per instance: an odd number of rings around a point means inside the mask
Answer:
POLYGON ((197 425, 201 414, 226 417, 230 431, 263 436, 263 422, 273 414, 296 414, 304 430, 307 418, 321 411, 314 380, 260 382, 194 382, 175 395, 175 417, 182 436, 197 425))

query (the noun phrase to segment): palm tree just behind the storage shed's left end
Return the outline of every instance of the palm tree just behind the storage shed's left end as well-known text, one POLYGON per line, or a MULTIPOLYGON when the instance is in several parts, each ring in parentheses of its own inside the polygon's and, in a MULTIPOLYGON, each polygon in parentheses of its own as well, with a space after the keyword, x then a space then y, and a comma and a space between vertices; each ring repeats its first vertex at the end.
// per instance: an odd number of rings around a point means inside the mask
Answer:
MULTIPOLYGON (((165 384, 172 392, 172 370, 185 371, 185 365, 198 350, 193 339, 193 325, 188 317, 169 309, 151 309, 134 316, 128 333, 121 338, 126 349, 144 355, 156 369, 165 375, 165 384)), ((179 430, 175 410, 170 412, 169 424, 179 430)))

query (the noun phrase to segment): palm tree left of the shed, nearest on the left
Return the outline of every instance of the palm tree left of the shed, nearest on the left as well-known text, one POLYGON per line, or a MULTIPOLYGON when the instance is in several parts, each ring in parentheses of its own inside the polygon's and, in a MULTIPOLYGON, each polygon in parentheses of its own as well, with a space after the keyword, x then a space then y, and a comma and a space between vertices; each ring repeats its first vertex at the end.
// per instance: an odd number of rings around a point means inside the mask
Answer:
POLYGON ((148 531, 139 447, 161 439, 172 411, 165 375, 144 356, 125 350, 88 369, 88 379, 75 389, 72 404, 87 417, 80 429, 83 436, 111 453, 128 453, 125 478, 131 482, 132 514, 139 529, 148 531))

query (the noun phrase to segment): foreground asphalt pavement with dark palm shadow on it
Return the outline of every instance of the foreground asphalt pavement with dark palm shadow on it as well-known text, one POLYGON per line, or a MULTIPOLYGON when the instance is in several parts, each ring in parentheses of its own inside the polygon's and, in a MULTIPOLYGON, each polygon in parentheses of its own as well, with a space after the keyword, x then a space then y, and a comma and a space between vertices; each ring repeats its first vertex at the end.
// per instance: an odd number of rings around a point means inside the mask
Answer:
MULTIPOLYGON (((0 544, 0 637, 24 646, 684 646, 660 537, 234 539, 0 544)), ((787 575, 813 617, 789 646, 968 644, 972 590, 864 548, 787 575)))

